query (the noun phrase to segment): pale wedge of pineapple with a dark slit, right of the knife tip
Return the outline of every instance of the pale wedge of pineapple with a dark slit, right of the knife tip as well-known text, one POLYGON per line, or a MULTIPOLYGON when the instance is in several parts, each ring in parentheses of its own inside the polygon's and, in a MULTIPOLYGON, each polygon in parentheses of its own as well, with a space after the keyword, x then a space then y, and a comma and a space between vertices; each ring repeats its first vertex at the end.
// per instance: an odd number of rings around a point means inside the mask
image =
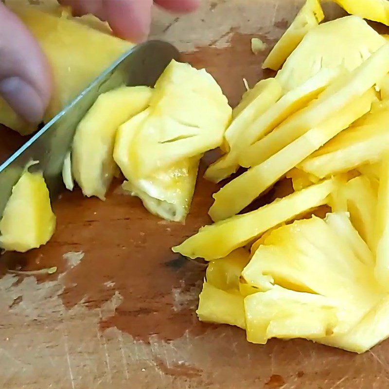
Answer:
POLYGON ((212 76, 175 60, 156 83, 150 108, 134 139, 141 175, 220 146, 231 118, 227 98, 212 76))

